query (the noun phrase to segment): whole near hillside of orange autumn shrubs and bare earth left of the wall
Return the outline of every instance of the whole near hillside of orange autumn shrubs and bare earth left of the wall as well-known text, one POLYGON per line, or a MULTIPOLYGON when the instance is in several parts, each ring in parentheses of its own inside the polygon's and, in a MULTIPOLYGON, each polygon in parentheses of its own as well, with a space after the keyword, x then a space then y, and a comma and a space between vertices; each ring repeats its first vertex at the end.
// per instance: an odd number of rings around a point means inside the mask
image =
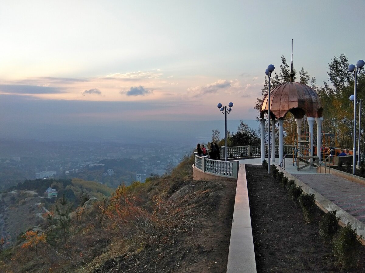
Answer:
MULTIPOLYGON (((47 221, 24 230, 15 246, 1 249, 0 271, 225 270, 233 211, 222 209, 233 209, 227 204, 235 182, 193 181, 192 163, 193 157, 186 157, 171 175, 122 185, 110 198, 90 198, 77 207, 58 198, 47 221), (226 254, 215 251, 218 245, 226 254)), ((62 187, 86 190, 85 183, 62 187)))

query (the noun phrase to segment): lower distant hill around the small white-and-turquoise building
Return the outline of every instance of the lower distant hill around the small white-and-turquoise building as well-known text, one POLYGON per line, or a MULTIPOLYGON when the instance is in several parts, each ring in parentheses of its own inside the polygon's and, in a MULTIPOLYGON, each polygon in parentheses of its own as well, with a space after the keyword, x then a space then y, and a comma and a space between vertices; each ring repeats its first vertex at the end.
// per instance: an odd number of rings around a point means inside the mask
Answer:
POLYGON ((70 209, 76 209, 90 198, 107 199, 114 190, 94 181, 82 179, 26 180, 0 194, 0 236, 4 247, 12 246, 19 234, 28 229, 41 230, 47 224, 48 214, 53 213, 55 203, 65 196, 70 209), (55 189, 58 198, 47 197, 48 187, 55 189))

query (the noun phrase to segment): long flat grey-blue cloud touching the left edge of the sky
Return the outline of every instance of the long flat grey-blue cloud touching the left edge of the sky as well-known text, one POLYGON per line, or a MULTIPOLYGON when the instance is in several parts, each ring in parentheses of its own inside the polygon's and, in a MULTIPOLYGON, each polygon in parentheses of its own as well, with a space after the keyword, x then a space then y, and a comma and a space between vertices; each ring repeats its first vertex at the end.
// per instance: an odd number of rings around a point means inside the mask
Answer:
POLYGON ((59 94, 64 93, 60 88, 48 86, 0 84, 0 92, 11 94, 59 94))

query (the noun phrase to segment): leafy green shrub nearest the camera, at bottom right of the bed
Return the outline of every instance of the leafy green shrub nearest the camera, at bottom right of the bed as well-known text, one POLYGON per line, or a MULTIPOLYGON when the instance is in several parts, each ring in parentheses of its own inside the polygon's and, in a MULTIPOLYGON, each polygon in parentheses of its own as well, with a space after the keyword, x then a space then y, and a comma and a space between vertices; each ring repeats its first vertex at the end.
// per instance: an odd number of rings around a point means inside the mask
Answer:
POLYGON ((361 246, 360 238, 357 236, 356 230, 352 229, 351 224, 347 223, 333 239, 333 253, 337 257, 337 262, 344 269, 352 268, 357 264, 358 250, 361 246))

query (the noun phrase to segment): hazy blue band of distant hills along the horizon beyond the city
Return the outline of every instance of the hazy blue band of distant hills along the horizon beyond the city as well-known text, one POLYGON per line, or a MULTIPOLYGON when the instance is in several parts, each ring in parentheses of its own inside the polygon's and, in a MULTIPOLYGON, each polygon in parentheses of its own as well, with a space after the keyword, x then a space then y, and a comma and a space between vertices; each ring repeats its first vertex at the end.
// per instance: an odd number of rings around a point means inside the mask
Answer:
MULTIPOLYGON (((241 120, 227 120, 227 130, 236 132, 241 120)), ((257 120, 243 120, 257 131, 257 120)), ((175 142, 196 145, 211 140, 212 129, 218 129, 224 138, 224 116, 222 120, 210 121, 133 121, 118 124, 44 124, 17 123, 18 126, 3 124, 0 138, 14 140, 119 142, 143 144, 149 142, 175 142)), ((185 148, 184 148, 185 149, 185 148)))

